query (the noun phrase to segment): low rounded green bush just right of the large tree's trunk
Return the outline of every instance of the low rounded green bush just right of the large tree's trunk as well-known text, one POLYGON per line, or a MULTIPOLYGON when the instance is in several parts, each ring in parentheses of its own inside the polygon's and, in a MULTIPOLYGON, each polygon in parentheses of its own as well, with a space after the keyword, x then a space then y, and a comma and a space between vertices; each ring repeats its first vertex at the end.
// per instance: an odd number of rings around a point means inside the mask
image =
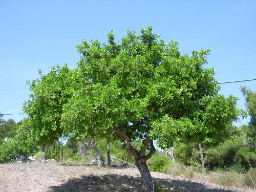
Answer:
POLYGON ((153 172, 167 172, 173 161, 164 155, 154 155, 148 160, 148 168, 153 172))

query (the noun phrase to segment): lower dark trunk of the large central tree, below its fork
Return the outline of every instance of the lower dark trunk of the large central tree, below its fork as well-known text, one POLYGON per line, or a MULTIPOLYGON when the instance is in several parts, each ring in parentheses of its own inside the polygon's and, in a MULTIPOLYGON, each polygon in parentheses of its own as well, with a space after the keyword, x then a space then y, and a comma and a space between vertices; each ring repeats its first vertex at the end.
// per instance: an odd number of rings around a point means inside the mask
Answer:
POLYGON ((139 163, 138 160, 135 160, 135 164, 137 168, 139 169, 142 181, 147 188, 148 192, 156 192, 156 185, 154 184, 154 181, 151 177, 150 170, 148 170, 148 167, 145 162, 139 163))

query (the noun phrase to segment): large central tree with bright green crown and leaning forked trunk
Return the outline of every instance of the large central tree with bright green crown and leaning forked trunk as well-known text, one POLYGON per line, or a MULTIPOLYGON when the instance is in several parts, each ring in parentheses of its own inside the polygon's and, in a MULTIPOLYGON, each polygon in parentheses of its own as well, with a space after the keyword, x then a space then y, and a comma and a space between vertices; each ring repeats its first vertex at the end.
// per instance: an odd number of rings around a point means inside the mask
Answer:
POLYGON ((165 44, 152 27, 126 32, 120 42, 111 32, 107 44, 77 46, 84 83, 64 104, 61 129, 83 138, 119 136, 147 190, 156 191, 146 165, 153 139, 161 147, 181 138, 212 142, 238 117, 237 99, 218 95, 214 70, 203 67, 209 50, 181 54, 178 42, 165 44), (135 139, 142 140, 140 149, 135 139))

